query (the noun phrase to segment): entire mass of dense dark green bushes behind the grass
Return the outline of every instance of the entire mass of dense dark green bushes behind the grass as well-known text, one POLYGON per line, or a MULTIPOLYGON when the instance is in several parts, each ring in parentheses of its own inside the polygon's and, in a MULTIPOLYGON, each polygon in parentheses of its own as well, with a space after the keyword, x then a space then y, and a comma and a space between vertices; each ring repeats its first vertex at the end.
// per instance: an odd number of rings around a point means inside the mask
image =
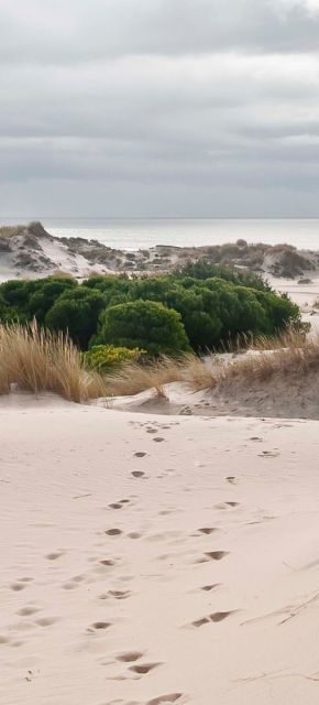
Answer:
POLYGON ((51 329, 68 330, 82 350, 113 344, 152 355, 189 345, 200 352, 239 335, 274 335, 302 325, 298 306, 261 278, 206 262, 151 278, 96 275, 78 284, 48 276, 0 284, 0 321, 33 317, 51 329))

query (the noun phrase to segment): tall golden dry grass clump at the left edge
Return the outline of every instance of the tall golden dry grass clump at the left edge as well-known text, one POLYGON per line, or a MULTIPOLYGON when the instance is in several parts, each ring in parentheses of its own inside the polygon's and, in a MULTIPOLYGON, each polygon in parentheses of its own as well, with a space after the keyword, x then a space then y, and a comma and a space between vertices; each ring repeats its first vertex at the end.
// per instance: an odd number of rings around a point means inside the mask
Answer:
POLYGON ((103 378, 82 368, 80 354, 63 334, 19 324, 0 326, 0 393, 10 384, 50 391, 82 402, 106 394, 103 378))

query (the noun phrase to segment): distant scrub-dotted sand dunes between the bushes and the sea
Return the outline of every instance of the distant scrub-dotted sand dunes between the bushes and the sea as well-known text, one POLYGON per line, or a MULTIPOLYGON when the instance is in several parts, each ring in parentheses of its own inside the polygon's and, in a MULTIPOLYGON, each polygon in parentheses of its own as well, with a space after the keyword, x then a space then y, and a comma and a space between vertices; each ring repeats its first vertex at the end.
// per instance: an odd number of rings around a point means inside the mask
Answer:
POLYGON ((0 278, 42 276, 63 271, 82 278, 110 272, 165 272, 198 259, 276 278, 311 278, 319 252, 289 245, 248 245, 245 240, 207 247, 156 246, 136 252, 116 250, 98 240, 57 238, 41 223, 0 228, 0 278))

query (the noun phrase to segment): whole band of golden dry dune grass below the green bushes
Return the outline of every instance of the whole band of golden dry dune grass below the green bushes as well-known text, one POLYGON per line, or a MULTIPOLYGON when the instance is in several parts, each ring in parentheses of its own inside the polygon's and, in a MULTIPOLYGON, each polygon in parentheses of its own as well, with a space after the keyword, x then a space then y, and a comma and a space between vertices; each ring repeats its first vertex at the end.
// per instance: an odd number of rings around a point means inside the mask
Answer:
POLYGON ((165 384, 170 382, 183 382, 199 391, 231 388, 233 382, 262 383, 274 375, 288 378, 319 370, 319 336, 307 339, 287 332, 272 339, 251 340, 245 352, 241 340, 231 352, 128 362, 103 377, 85 369, 79 350, 67 336, 41 329, 35 323, 1 325, 0 394, 9 393, 11 384, 16 384, 23 391, 50 391, 74 402, 133 395, 147 389, 165 399, 165 384))

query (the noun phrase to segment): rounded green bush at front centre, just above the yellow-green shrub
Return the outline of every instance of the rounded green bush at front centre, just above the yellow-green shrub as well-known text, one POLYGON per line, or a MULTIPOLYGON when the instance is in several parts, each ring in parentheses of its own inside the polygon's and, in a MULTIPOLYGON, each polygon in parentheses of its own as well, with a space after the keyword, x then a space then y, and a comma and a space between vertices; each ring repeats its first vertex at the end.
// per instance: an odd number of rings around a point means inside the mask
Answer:
POLYGON ((111 306, 101 316, 100 340, 148 355, 189 350, 179 314, 153 301, 134 301, 111 306))

